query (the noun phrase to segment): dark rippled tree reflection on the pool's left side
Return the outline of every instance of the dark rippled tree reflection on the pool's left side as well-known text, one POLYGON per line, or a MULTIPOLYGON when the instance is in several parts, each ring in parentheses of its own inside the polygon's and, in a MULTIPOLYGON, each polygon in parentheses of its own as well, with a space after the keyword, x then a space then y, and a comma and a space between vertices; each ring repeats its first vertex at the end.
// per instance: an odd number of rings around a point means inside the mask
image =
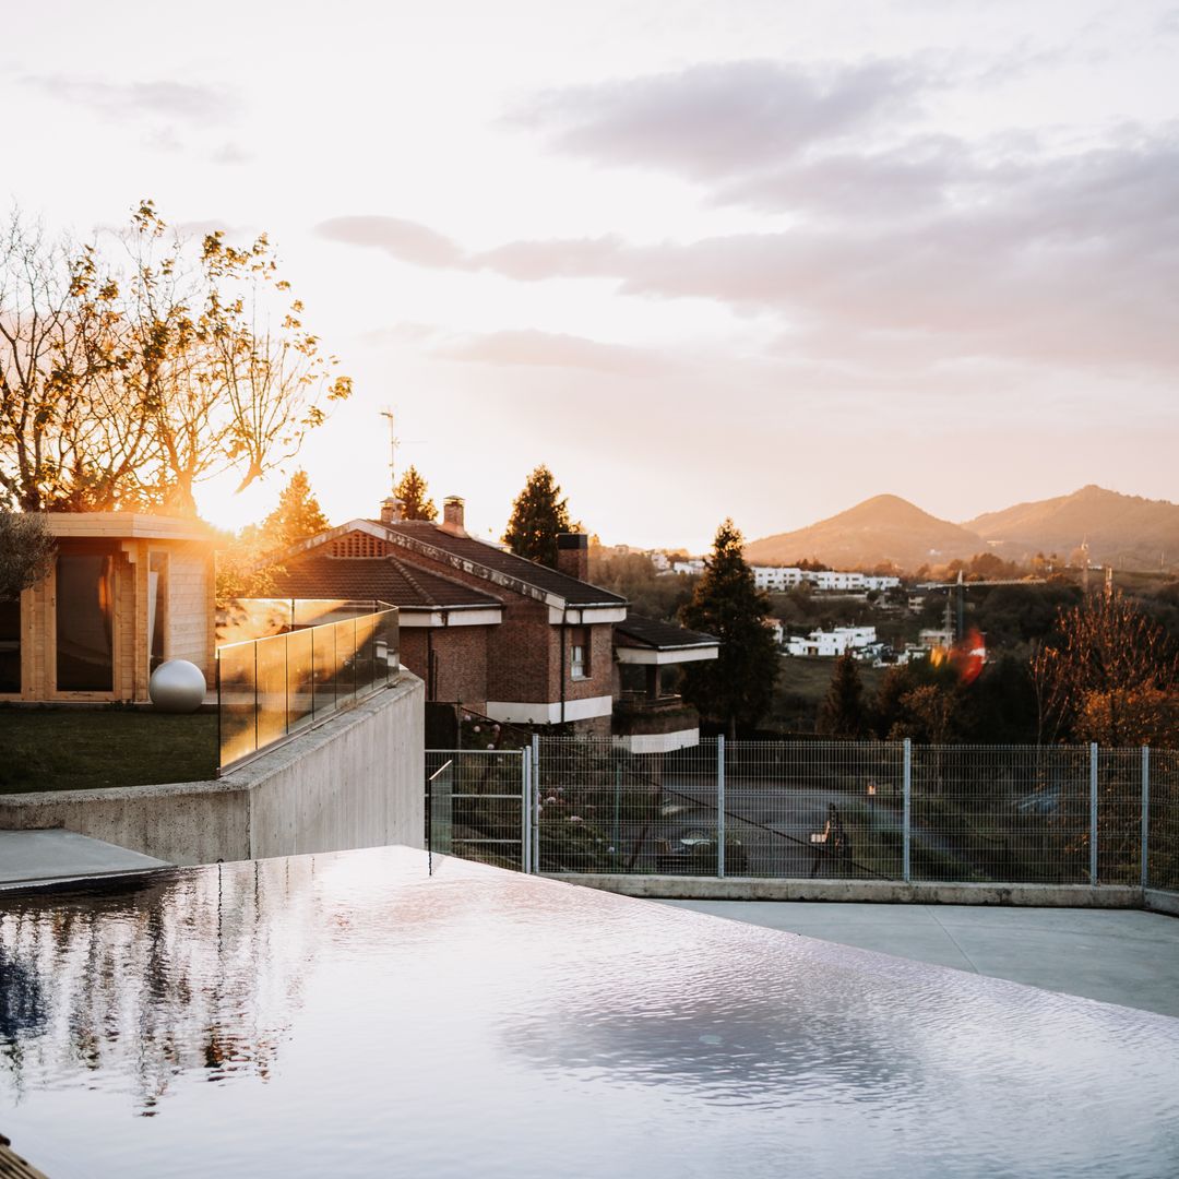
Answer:
POLYGON ((91 1074, 151 1115, 189 1071, 264 1080, 298 996, 312 871, 216 865, 0 908, 6 1084, 22 1095, 91 1074))

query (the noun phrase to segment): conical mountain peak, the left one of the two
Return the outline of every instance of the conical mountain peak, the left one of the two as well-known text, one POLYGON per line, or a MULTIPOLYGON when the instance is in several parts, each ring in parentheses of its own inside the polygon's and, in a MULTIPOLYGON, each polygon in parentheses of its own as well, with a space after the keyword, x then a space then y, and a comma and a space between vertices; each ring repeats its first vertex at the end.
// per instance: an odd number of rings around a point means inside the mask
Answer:
POLYGON ((987 551, 968 527, 938 520, 898 495, 875 495, 809 528, 750 541, 752 565, 793 565, 816 558, 837 569, 874 568, 885 561, 913 571, 987 551))

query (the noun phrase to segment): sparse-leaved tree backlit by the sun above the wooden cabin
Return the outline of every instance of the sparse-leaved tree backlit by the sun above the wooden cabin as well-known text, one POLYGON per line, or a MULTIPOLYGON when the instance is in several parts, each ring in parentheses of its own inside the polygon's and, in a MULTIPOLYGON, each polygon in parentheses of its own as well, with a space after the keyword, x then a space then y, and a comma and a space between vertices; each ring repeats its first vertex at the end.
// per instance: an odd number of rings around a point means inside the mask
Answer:
POLYGON ((119 242, 14 216, 0 246, 0 492, 26 509, 195 513, 200 482, 249 486, 351 393, 265 235, 198 244, 143 202, 119 242))

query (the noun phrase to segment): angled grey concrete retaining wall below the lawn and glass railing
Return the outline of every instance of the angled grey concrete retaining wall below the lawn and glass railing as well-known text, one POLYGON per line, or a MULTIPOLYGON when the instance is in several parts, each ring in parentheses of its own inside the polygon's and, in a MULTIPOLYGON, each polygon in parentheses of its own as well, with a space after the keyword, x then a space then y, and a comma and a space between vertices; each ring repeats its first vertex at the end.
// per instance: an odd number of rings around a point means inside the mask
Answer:
POLYGON ((383 692, 217 782, 0 796, 0 829, 60 826, 174 864, 421 848, 424 685, 383 692))

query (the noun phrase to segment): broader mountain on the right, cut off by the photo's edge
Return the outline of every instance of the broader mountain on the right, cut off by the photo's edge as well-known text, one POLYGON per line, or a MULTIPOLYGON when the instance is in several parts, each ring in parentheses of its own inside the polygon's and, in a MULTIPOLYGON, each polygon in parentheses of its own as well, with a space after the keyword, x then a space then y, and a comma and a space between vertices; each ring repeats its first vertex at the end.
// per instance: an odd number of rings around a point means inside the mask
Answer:
POLYGON ((1119 569, 1179 564, 1179 503, 1121 495, 1093 483, 1072 495, 984 513, 963 527, 1008 560, 1026 560, 1035 553, 1056 553, 1067 560, 1087 540, 1091 561, 1119 569))

